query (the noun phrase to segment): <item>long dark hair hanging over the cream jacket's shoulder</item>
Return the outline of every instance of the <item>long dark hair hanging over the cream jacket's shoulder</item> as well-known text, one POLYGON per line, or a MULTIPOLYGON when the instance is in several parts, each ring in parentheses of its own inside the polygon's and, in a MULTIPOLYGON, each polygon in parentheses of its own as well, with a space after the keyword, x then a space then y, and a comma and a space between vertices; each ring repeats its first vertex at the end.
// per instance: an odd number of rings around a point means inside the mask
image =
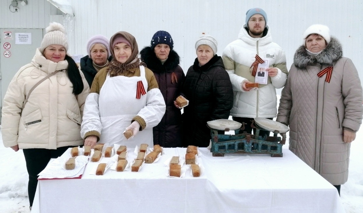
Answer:
POLYGON ((72 57, 66 55, 65 60, 68 61, 68 78, 73 84, 73 94, 78 95, 84 87, 81 73, 79 73, 78 66, 72 57))

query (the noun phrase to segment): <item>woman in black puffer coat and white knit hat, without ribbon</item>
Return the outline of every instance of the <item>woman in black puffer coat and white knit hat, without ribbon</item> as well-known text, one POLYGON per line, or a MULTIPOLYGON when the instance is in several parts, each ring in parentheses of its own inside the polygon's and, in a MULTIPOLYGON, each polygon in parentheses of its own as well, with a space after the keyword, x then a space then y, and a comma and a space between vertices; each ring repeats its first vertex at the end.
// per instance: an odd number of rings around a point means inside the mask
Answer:
POLYGON ((197 40, 195 48, 197 58, 188 69, 183 85, 183 93, 189 100, 182 115, 183 146, 207 147, 211 140, 207 122, 228 119, 233 90, 223 61, 216 55, 217 41, 204 35, 197 40))

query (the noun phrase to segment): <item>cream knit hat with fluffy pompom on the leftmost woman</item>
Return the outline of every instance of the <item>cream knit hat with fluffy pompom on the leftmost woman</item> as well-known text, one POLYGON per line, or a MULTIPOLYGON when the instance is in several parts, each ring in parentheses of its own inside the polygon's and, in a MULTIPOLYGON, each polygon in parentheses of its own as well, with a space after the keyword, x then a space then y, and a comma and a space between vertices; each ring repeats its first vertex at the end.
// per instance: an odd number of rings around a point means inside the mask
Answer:
POLYGON ((43 41, 40 44, 40 52, 44 52, 44 49, 52 44, 58 44, 63 46, 68 51, 68 41, 66 38, 66 30, 64 26, 52 22, 47 28, 45 28, 46 34, 44 35, 43 41))

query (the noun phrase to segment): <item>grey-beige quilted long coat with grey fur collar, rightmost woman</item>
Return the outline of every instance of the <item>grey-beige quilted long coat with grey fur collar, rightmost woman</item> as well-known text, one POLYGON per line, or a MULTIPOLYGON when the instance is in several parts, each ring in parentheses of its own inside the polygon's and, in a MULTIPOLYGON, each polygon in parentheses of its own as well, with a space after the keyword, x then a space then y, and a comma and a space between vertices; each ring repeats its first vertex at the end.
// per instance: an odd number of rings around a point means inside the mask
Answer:
POLYGON ((350 144, 343 142, 343 128, 358 131, 362 123, 363 95, 352 61, 342 57, 342 46, 331 38, 316 56, 305 46, 295 53, 277 121, 290 127, 289 149, 333 185, 348 179, 350 144), (317 74, 333 65, 327 74, 317 74))

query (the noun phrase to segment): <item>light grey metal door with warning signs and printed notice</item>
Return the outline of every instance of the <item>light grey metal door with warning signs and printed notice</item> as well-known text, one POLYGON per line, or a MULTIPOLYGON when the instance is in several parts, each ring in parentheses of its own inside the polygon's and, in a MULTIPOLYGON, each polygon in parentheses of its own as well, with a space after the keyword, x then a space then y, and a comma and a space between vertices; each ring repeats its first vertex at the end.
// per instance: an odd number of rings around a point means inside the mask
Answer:
POLYGON ((42 39, 43 29, 0 29, 1 108, 11 79, 30 63, 42 39))

